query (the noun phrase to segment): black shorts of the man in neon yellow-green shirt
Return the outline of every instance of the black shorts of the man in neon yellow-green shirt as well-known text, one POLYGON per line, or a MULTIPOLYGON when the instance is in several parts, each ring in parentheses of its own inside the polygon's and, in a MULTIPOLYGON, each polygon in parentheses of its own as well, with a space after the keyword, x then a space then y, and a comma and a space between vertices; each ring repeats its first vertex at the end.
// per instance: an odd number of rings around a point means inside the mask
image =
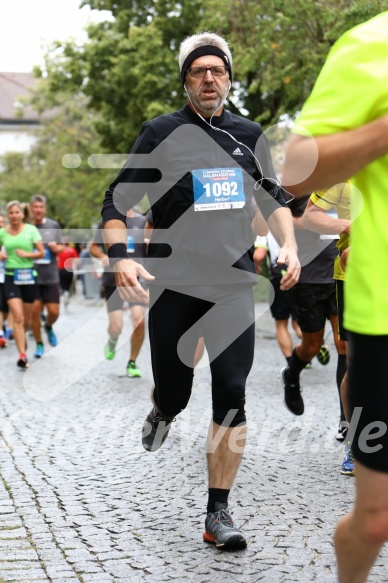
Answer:
POLYGON ((348 337, 348 398, 353 420, 349 439, 361 413, 352 451, 366 467, 388 473, 388 336, 348 332, 348 337))

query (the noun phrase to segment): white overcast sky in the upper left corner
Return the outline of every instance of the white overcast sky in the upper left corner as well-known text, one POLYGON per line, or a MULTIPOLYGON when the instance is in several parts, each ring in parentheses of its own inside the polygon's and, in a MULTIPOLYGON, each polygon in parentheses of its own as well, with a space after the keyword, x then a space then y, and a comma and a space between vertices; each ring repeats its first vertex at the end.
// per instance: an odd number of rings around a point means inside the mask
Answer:
POLYGON ((28 73, 43 63, 44 47, 54 40, 86 40, 89 22, 109 12, 81 10, 81 0, 0 0, 0 72, 28 73))

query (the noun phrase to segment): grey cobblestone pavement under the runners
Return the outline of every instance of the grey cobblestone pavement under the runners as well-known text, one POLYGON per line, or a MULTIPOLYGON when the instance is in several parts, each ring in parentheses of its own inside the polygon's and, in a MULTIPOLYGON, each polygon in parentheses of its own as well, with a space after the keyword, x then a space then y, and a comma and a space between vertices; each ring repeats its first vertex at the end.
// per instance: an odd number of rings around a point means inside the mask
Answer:
MULTIPOLYGON (((226 554, 202 541, 208 368, 196 371, 189 407, 166 444, 146 453, 148 340, 138 360, 143 377, 125 377, 126 320, 112 362, 102 357, 104 307, 79 299, 55 326, 58 347, 26 373, 12 343, 0 352, 0 580, 336 582, 332 533, 354 481, 339 473, 332 340, 329 364, 315 360, 303 372, 306 412, 296 418, 283 404, 271 317, 257 321, 249 437, 230 497, 249 545, 226 554)), ((385 549, 370 581, 387 581, 387 558, 385 549)))

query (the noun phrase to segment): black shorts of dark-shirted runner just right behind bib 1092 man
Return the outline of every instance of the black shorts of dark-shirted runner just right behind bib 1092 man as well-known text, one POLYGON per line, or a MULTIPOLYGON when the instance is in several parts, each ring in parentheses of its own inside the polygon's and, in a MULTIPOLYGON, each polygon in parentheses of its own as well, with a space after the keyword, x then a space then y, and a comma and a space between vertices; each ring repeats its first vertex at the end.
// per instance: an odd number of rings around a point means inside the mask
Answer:
POLYGON ((329 316, 337 315, 334 282, 297 283, 286 293, 302 332, 319 332, 329 316))

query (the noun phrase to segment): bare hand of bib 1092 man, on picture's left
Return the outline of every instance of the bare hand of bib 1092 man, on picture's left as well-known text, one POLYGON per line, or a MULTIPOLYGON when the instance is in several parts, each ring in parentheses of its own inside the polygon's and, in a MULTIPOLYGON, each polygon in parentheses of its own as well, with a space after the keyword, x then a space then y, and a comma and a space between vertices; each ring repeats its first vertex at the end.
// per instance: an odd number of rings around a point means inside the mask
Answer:
POLYGON ((149 293, 139 283, 138 277, 147 281, 155 278, 148 271, 132 259, 121 259, 113 268, 116 287, 122 300, 127 302, 141 302, 148 304, 149 293))

